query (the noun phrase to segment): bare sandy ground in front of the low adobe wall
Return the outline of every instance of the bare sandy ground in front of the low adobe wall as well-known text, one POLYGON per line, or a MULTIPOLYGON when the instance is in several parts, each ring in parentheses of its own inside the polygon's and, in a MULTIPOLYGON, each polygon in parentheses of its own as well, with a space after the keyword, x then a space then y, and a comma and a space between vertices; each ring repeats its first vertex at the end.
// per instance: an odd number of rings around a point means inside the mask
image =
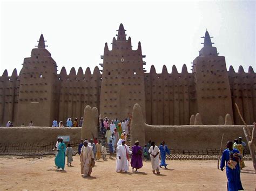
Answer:
MULTIPOLYGON (((169 169, 152 174, 150 162, 139 173, 117 173, 116 160, 96 162, 92 176, 80 176, 80 160, 73 157, 73 167, 56 171, 53 156, 40 158, 0 157, 1 190, 226 190, 226 173, 217 169, 217 161, 167 161, 169 169)), ((241 172, 244 189, 254 190, 256 174, 252 161, 245 161, 241 172)))

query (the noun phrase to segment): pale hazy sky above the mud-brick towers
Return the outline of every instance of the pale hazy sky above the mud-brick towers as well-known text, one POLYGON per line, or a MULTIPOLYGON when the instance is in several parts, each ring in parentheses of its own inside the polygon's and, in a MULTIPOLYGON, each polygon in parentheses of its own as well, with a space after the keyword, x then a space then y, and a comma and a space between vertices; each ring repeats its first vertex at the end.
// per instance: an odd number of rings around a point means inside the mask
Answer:
MULTIPOLYGON (((22 68, 23 59, 43 32, 58 70, 65 66, 91 71, 103 60, 104 44, 112 49, 119 24, 146 55, 146 69, 163 65, 171 73, 191 62, 203 47, 206 29, 227 68, 245 71, 255 65, 255 1, 1 1, 0 75, 22 68)), ((99 67, 100 68, 100 67, 99 67)), ((58 73, 59 73, 58 72, 58 73)))

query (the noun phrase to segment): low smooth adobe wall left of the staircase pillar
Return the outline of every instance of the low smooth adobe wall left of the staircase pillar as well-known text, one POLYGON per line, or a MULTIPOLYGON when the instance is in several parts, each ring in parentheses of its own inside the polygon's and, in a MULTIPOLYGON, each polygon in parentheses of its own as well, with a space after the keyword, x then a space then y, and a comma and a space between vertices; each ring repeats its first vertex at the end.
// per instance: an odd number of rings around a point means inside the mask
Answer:
POLYGON ((0 154, 55 154, 57 136, 70 136, 70 144, 76 150, 81 128, 50 127, 0 127, 0 154))

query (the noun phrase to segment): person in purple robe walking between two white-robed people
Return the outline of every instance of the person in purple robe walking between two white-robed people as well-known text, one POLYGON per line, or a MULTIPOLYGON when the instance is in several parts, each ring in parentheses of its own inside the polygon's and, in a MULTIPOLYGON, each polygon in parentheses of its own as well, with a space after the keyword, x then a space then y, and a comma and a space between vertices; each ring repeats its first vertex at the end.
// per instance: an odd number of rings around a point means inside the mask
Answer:
POLYGON ((139 168, 142 168, 142 147, 139 146, 139 141, 136 140, 135 145, 132 146, 132 159, 131 159, 132 172, 136 168, 135 172, 138 172, 139 168))

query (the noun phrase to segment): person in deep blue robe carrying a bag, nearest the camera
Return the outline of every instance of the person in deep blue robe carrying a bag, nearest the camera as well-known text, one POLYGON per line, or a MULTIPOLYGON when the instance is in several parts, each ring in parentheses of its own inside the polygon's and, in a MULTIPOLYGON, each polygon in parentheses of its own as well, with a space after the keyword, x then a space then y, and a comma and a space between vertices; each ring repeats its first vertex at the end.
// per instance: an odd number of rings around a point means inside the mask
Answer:
POLYGON ((227 149, 223 151, 220 169, 223 171, 223 168, 226 163, 226 174, 227 174, 227 190, 243 190, 242 183, 240 179, 240 167, 239 167, 239 158, 240 153, 235 148, 232 148, 233 143, 227 142, 227 149))

